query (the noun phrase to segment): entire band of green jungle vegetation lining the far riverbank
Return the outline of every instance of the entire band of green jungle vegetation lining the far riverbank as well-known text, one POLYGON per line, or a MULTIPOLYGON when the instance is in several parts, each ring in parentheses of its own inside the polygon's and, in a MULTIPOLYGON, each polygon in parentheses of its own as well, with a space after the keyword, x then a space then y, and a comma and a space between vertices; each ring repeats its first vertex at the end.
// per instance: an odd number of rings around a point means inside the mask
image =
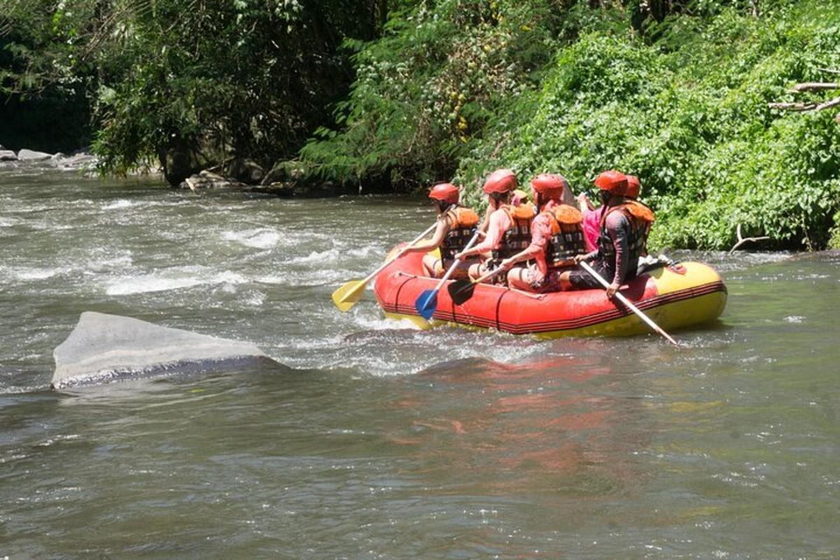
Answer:
POLYGON ((472 202, 499 166, 575 191, 616 168, 641 178, 659 246, 728 248, 740 224, 840 247, 840 106, 769 107, 840 96, 790 92, 840 81, 834 0, 0 7, 7 147, 91 141, 103 171, 160 161, 171 181, 234 157, 336 191, 454 177, 472 202))

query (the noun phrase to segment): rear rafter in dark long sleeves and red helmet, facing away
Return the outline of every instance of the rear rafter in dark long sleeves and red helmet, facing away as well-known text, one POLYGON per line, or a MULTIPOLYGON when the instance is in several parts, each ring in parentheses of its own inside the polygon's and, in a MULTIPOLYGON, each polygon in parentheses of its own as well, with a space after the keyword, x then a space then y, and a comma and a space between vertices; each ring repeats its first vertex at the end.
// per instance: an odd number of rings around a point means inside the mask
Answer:
MULTIPOLYGON (((636 276, 638 258, 648 253, 648 233, 654 212, 628 198, 627 175, 616 170, 604 171, 595 180, 600 189, 601 219, 597 248, 575 256, 575 263, 595 260, 592 268, 603 278, 612 279, 606 296, 612 297, 627 280, 636 276)), ((638 193, 637 193, 638 194, 638 193)), ((560 283, 575 290, 589 290, 601 285, 585 270, 560 275, 560 283)))

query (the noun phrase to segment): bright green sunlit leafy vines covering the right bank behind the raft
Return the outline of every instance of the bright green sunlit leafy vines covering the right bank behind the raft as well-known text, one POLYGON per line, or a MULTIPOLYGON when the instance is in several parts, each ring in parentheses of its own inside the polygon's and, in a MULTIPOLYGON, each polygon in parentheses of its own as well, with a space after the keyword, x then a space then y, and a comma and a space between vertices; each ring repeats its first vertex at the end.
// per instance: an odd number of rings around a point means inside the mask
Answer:
POLYGON ((685 47, 667 50, 583 34, 543 89, 496 123, 501 144, 461 161, 461 180, 477 185, 503 165, 522 177, 559 171, 591 190, 616 168, 641 178, 656 245, 726 249, 740 223, 778 246, 824 247, 840 206, 840 127, 833 113, 776 113, 768 102, 840 65, 840 8, 796 3, 762 20, 728 8, 683 29, 694 29, 685 47))

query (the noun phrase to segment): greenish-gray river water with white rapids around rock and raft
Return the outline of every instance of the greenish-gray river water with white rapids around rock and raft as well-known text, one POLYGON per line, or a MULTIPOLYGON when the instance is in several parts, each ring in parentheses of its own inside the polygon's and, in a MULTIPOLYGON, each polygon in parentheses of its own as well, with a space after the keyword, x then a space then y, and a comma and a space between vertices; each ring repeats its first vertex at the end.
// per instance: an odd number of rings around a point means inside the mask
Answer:
POLYGON ((840 557, 840 255, 672 254, 685 348, 335 309, 432 219, 0 171, 0 558, 840 557), (82 311, 283 365, 50 391, 82 311))

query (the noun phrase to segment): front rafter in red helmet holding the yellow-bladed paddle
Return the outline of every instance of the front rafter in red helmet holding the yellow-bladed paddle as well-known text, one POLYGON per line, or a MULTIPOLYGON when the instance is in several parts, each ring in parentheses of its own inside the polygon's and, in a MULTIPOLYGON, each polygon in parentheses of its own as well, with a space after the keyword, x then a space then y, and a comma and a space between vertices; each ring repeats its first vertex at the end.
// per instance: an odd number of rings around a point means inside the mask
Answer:
MULTIPOLYGON (((423 256, 423 269, 427 276, 440 278, 454 264, 454 255, 464 250, 475 235, 479 217, 473 210, 460 205, 460 192, 451 183, 439 183, 432 187, 428 197, 438 209, 438 227, 428 241, 416 243, 407 253, 428 253, 440 249, 440 258, 433 254, 423 256)), ((466 278, 471 264, 478 264, 478 257, 459 263, 452 277, 466 278)))

